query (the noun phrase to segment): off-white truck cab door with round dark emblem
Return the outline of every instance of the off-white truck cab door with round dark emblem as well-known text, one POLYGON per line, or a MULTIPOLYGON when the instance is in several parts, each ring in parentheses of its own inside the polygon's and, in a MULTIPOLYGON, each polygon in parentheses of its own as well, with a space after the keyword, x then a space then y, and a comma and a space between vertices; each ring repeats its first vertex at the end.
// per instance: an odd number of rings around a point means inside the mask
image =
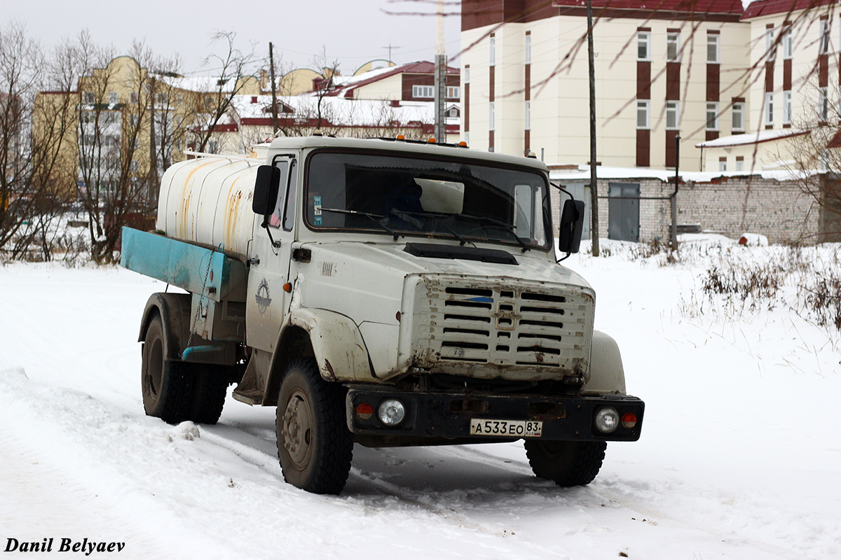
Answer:
POLYGON ((275 156, 273 165, 280 171, 278 203, 267 228, 261 227, 259 217, 254 222, 246 301, 246 343, 269 352, 274 350, 292 296, 283 285, 289 281, 299 175, 294 154, 275 156))

